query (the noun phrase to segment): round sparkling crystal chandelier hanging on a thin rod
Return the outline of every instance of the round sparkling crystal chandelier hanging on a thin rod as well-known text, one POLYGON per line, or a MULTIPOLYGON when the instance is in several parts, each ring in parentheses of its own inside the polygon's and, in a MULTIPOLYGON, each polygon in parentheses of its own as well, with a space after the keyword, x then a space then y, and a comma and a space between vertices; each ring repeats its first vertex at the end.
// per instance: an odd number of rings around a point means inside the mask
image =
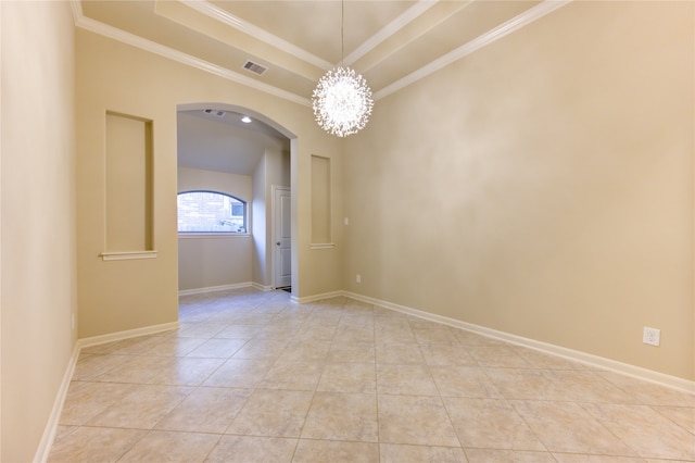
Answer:
POLYGON ((371 89, 362 75, 343 66, 344 53, 344 3, 341 17, 341 65, 326 73, 318 80, 312 103, 316 122, 326 132, 339 137, 356 134, 365 127, 371 114, 374 100, 371 89))

